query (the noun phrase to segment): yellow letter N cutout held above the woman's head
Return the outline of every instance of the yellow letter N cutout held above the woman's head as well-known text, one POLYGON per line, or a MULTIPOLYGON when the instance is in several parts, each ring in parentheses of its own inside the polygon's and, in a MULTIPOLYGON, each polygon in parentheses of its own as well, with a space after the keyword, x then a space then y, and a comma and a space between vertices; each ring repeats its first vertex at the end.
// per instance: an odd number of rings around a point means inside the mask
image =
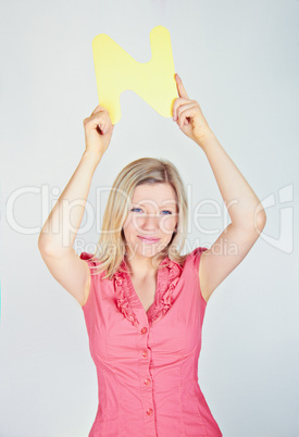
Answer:
POLYGON ((163 26, 150 33, 152 58, 147 63, 137 62, 105 34, 92 40, 99 104, 104 107, 112 124, 121 120, 121 93, 130 89, 160 115, 172 116, 177 96, 171 36, 163 26))

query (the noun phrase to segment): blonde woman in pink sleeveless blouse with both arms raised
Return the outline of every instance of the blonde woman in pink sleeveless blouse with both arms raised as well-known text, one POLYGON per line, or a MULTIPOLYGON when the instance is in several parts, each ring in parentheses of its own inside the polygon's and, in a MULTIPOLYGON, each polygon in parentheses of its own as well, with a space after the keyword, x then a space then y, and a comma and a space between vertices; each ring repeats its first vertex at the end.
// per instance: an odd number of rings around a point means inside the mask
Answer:
POLYGON ((148 158, 116 177, 98 250, 77 257, 91 178, 114 127, 102 107, 84 121, 86 150, 39 236, 51 274, 84 311, 99 384, 89 437, 222 436, 198 385, 201 327, 212 292, 259 238, 265 212, 175 78, 173 118, 205 153, 232 220, 214 245, 180 254, 184 185, 173 164, 148 158), (71 232, 64 204, 76 199, 84 208, 72 211, 71 232))

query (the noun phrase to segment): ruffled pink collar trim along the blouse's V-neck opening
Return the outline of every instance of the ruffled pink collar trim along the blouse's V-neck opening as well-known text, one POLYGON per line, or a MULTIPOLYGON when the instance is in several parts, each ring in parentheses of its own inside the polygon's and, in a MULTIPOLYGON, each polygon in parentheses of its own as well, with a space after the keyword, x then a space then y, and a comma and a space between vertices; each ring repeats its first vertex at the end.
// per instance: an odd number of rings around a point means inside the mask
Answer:
MULTIPOLYGON (((172 295, 183 272, 183 267, 169 257, 160 263, 157 277, 157 290, 154 301, 146 313, 149 324, 162 319, 173 304, 172 295)), ((139 325, 136 312, 144 311, 142 303, 135 291, 127 265, 123 260, 119 271, 113 276, 116 303, 124 316, 136 327, 139 325)))

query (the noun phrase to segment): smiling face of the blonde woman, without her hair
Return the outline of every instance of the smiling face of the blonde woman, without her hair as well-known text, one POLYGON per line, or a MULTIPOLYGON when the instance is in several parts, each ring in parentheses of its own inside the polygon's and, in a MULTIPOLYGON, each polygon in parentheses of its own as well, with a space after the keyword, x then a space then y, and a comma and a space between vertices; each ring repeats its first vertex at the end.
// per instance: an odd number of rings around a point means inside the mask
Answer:
POLYGON ((170 184, 136 187, 123 226, 128 258, 150 258, 160 252, 171 241, 176 225, 176 195, 170 184))

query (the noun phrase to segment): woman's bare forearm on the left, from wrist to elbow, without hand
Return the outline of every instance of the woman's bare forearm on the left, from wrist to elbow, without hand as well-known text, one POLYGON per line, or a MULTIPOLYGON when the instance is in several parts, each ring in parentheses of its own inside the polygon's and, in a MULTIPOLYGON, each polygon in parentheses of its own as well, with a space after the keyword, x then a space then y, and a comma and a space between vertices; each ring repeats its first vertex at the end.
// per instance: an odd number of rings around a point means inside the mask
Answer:
POLYGON ((38 247, 50 253, 73 248, 85 211, 94 173, 101 155, 84 152, 77 168, 47 218, 38 247))

